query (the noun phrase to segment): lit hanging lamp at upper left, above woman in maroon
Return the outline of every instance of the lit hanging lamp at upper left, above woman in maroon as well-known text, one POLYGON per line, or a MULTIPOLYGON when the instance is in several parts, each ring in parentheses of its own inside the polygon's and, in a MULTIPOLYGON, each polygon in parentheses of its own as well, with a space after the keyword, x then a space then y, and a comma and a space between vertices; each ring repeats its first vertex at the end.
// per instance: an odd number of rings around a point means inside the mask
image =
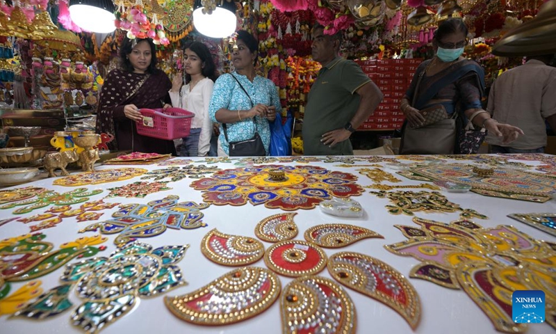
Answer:
POLYGON ((79 28, 93 33, 116 29, 112 0, 70 0, 70 17, 79 28))

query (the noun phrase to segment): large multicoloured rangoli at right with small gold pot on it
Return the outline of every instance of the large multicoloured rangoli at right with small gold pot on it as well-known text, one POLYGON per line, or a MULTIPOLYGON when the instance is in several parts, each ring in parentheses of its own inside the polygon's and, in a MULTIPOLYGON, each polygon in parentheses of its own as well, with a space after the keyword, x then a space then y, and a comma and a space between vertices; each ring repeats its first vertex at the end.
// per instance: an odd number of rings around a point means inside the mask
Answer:
POLYGON ((556 176, 528 173, 508 168, 494 168, 493 175, 481 177, 472 165, 435 164, 414 166, 398 172, 411 180, 448 181, 468 184, 471 191, 484 196, 546 202, 556 188, 556 176))

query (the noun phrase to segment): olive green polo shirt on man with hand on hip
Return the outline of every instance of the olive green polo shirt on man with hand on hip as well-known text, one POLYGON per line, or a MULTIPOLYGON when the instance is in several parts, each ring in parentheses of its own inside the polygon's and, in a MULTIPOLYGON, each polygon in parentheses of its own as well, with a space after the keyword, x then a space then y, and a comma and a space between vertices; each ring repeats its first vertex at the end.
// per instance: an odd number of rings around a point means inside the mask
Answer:
POLYGON ((361 67, 341 57, 323 66, 311 87, 303 117, 303 154, 352 155, 349 139, 330 148, 320 142, 322 134, 343 127, 359 108, 355 90, 370 82, 361 67))

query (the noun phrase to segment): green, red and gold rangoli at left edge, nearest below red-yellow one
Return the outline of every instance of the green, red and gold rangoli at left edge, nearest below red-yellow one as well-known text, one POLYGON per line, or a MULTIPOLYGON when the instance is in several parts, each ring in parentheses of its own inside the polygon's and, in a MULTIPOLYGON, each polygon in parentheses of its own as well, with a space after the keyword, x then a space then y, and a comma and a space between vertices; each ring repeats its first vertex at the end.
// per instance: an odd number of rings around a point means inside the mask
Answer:
POLYGON ((87 188, 78 188, 65 193, 56 193, 55 191, 42 191, 38 193, 37 198, 19 200, 2 205, 0 209, 12 209, 13 207, 20 207, 16 209, 13 214, 28 214, 34 209, 40 209, 49 205, 72 205, 82 202, 87 202, 90 196, 95 196, 101 193, 102 190, 95 189, 88 191, 87 188), (25 205, 24 207, 21 207, 25 205))

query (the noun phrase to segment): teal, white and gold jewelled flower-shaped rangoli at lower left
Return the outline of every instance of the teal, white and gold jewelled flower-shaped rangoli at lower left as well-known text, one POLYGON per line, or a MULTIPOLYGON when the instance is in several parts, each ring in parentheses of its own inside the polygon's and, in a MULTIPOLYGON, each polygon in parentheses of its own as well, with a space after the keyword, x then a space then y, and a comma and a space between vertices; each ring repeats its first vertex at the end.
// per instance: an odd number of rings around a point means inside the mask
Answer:
POLYGON ((186 285, 181 261, 189 245, 152 249, 138 241, 118 248, 110 257, 94 257, 66 266, 60 280, 75 284, 83 301, 72 313, 73 324, 97 333, 133 310, 140 297, 158 296, 186 285))

